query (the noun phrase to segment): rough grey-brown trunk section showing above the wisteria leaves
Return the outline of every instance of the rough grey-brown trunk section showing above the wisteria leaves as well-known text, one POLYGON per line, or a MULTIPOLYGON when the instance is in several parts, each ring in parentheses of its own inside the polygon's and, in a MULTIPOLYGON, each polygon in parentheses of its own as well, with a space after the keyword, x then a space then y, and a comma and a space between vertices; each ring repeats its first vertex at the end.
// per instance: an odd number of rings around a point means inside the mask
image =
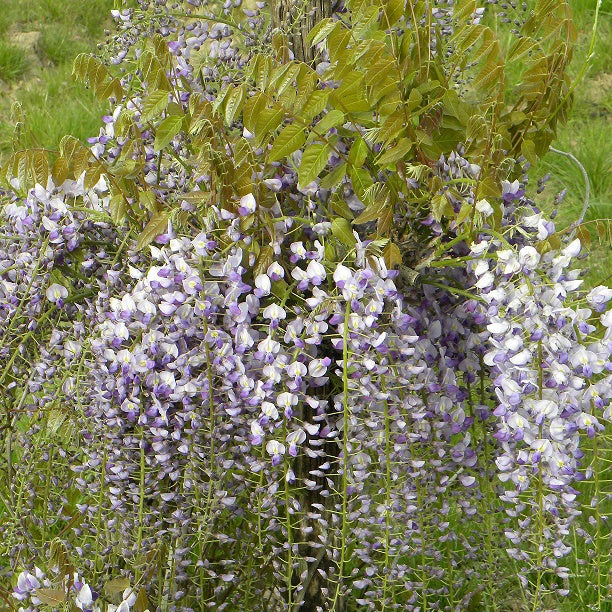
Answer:
POLYGON ((272 23, 287 36, 294 59, 312 64, 315 50, 306 40, 308 32, 321 19, 331 17, 333 0, 273 0, 272 23))

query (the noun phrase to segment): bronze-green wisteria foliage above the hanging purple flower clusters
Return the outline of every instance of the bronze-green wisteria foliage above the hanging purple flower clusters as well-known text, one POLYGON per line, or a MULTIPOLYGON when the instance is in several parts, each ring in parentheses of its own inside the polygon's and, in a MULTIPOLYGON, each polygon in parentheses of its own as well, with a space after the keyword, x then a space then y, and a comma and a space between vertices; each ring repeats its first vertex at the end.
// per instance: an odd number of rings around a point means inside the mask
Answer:
MULTIPOLYGON (((66 139, 51 165, 46 152, 21 150, 16 138, 4 176, 19 177, 25 190, 49 174, 61 184, 85 171, 86 186, 104 174, 113 220, 129 217, 136 228, 149 222, 144 246, 180 214, 172 194, 145 180, 147 142, 160 171, 180 163, 188 176, 210 176, 206 194, 194 196, 199 206, 217 202, 232 211, 248 193, 271 206, 277 196, 255 177, 274 176, 280 166, 295 170, 299 190, 316 183, 341 241, 352 240, 351 225, 376 222, 368 228, 389 240, 387 263, 407 263, 403 244, 421 237, 414 223, 395 227, 395 214, 473 223, 473 203, 456 206, 465 180, 442 192, 432 172, 441 154, 462 145, 481 167, 472 179, 476 198, 499 197, 509 160, 522 154, 536 162, 545 154, 569 103, 564 69, 575 33, 566 2, 538 2, 507 49, 481 20, 476 0, 455 3, 448 32, 437 10, 424 2, 348 1, 341 18, 324 19, 310 33, 320 51, 314 66, 291 60, 285 39, 275 36, 267 53, 249 54, 216 80, 201 67, 201 79, 179 74, 160 35, 123 60, 123 80, 81 55, 75 76, 119 105, 115 138, 127 144, 107 164, 66 139), (516 62, 525 67, 518 87, 505 78, 516 62), (211 95, 198 95, 202 89, 211 95), (365 207, 359 214, 345 204, 347 189, 365 207)), ((262 224, 253 234, 265 232, 262 224)))

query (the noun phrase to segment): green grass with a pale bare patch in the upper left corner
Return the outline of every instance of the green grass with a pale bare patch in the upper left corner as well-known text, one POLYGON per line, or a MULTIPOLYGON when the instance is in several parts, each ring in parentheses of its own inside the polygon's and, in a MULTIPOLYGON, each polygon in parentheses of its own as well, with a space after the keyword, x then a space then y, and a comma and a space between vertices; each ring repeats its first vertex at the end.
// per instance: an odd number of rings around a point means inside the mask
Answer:
POLYGON ((11 106, 21 103, 27 144, 96 135, 105 105, 72 78, 77 54, 112 26, 113 0, 6 0, 0 10, 0 156, 11 147, 11 106))

